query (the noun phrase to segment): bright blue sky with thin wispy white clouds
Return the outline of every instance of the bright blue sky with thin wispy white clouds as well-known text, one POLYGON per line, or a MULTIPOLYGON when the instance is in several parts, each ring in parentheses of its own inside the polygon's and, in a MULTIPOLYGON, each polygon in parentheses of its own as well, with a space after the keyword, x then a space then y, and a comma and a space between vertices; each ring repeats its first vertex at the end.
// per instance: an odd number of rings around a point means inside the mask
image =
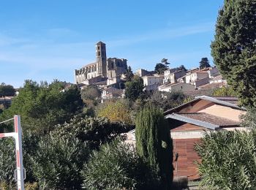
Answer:
POLYGON ((74 69, 107 57, 136 69, 210 64, 211 41, 223 0, 0 0, 0 83, 75 83, 74 69))

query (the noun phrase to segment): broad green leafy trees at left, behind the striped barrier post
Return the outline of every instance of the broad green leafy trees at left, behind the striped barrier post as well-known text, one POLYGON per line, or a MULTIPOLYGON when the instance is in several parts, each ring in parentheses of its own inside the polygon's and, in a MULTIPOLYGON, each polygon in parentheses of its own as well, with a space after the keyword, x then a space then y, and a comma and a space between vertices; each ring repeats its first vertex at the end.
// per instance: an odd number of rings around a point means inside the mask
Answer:
POLYGON ((69 121, 80 113, 83 102, 76 86, 63 90, 58 81, 50 85, 26 80, 19 96, 13 99, 9 109, 0 115, 0 121, 21 115, 23 129, 37 132, 49 132, 58 123, 69 121))

